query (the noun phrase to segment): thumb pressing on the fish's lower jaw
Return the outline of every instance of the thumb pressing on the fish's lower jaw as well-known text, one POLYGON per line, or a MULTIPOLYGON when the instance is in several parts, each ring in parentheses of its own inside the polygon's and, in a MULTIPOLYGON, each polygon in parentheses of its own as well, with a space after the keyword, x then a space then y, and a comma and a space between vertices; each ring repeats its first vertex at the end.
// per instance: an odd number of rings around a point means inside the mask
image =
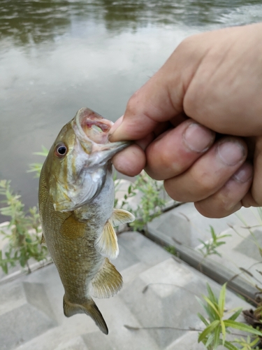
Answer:
POLYGON ((189 51, 190 45, 183 41, 161 69, 131 96, 124 117, 112 127, 110 141, 143 139, 157 130, 159 123, 181 114, 184 94, 199 62, 199 57, 189 55, 189 51))

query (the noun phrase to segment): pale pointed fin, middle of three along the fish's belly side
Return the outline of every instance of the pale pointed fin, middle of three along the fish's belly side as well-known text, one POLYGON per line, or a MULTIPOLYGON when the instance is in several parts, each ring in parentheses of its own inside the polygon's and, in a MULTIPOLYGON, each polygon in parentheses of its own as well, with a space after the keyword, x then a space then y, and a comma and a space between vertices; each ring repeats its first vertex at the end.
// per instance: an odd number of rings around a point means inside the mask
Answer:
POLYGON ((96 250, 101 253, 101 255, 110 259, 117 258, 119 254, 117 235, 110 220, 105 223, 101 236, 96 239, 95 247, 96 250))

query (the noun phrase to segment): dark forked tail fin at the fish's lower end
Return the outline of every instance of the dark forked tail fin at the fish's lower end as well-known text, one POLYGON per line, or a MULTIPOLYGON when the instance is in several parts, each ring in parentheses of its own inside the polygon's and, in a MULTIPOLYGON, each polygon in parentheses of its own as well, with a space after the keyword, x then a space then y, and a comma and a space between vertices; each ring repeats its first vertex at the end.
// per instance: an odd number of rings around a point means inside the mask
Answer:
POLYGON ((105 320, 103 319, 103 316, 99 311, 99 308, 96 306, 94 300, 90 299, 88 302, 81 305, 73 304, 72 302, 69 302, 66 295, 64 295, 63 306, 66 317, 70 317, 75 314, 87 314, 93 318, 96 325, 104 334, 108 334, 108 326, 106 325, 105 320))

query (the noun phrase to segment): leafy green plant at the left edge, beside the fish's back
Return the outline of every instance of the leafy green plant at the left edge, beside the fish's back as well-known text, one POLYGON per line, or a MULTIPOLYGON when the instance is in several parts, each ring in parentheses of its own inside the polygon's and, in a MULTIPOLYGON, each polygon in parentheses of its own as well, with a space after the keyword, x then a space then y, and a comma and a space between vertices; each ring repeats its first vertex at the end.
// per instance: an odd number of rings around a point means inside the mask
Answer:
POLYGON ((5 197, 1 203, 5 207, 0 208, 0 213, 8 216, 10 222, 6 230, 1 230, 4 239, 8 241, 5 250, 0 251, 0 266, 3 272, 8 273, 8 268, 20 263, 22 267, 28 260, 34 258, 37 261, 46 258, 47 249, 41 246, 41 229, 38 210, 36 207, 24 211, 24 204, 20 201, 20 195, 15 195, 10 188, 10 181, 0 181, 0 195, 5 197))

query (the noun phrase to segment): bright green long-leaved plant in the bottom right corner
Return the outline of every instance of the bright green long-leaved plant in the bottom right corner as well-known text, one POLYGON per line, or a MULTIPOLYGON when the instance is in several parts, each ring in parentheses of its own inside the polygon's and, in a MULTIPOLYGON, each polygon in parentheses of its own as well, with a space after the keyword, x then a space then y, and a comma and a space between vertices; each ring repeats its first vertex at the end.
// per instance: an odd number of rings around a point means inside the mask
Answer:
MULTIPOLYGON (((234 328, 256 335, 255 339, 252 340, 251 343, 248 342, 247 339, 246 343, 243 343, 244 346, 251 346, 255 340, 256 342, 254 342, 254 345, 256 345, 257 342, 259 342, 259 337, 262 337, 262 333, 259 330, 252 328, 250 325, 245 325, 244 323, 235 321, 242 311, 241 308, 237 309, 236 311, 235 309, 228 311, 234 313, 229 318, 225 318, 226 313, 224 311, 224 306, 226 300, 226 283, 221 288, 219 298, 214 295, 209 285, 207 285, 207 288, 208 296, 203 295, 203 300, 205 302, 197 298, 198 302, 208 314, 208 317, 204 317, 202 314, 198 313, 198 317, 206 326, 203 332, 198 335, 198 342, 205 344, 205 347, 208 350, 215 350, 219 345, 223 345, 226 349, 229 350, 238 350, 240 348, 233 345, 233 342, 226 340, 226 335, 231 333, 229 328, 234 328)), ((241 345, 241 339, 237 339, 234 342, 238 342, 238 344, 241 345)), ((242 349, 249 348, 244 347, 242 349)))

